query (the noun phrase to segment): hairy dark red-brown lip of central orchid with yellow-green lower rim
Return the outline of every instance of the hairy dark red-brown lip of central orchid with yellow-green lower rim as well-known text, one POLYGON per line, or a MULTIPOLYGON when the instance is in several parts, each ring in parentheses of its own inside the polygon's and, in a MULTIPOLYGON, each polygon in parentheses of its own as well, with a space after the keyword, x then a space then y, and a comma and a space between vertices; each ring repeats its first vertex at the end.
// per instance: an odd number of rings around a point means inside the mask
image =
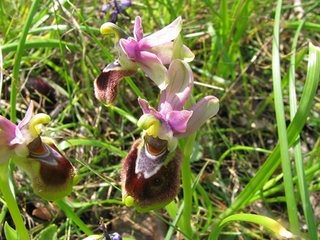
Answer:
MULTIPOLYGON (((162 162, 165 164, 162 164, 154 174, 150 176, 147 174, 145 178, 144 171, 148 168, 146 163, 153 160, 148 159, 148 155, 139 154, 139 152, 146 151, 144 145, 143 137, 132 145, 121 170, 122 200, 127 206, 134 205, 138 212, 162 208, 174 199, 180 188, 180 170, 183 159, 179 147, 172 153, 166 151, 166 155, 161 155, 162 162), (147 159, 143 162, 137 161, 142 156, 147 159), (140 165, 139 171, 137 171, 137 164, 140 165)), ((154 156, 154 158, 158 157, 154 156)))

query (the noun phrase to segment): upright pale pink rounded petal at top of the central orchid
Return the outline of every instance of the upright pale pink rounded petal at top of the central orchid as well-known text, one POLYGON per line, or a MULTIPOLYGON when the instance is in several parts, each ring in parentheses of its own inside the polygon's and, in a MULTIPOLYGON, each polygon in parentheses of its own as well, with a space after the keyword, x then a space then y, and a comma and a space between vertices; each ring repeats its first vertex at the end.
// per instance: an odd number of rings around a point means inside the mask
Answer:
POLYGON ((189 65, 175 59, 169 66, 170 83, 162 92, 158 111, 163 115, 168 112, 180 111, 187 101, 194 86, 194 77, 189 65))

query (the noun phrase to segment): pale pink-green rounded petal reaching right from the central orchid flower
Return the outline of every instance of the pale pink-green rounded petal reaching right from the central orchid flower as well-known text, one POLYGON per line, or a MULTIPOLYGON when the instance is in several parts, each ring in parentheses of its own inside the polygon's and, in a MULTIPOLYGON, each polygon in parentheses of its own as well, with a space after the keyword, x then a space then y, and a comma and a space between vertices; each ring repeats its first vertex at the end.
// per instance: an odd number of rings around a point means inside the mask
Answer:
POLYGON ((193 114, 189 118, 185 132, 175 135, 178 139, 190 136, 199 130, 210 117, 214 116, 219 110, 219 100, 213 96, 206 96, 187 110, 193 111, 193 114))

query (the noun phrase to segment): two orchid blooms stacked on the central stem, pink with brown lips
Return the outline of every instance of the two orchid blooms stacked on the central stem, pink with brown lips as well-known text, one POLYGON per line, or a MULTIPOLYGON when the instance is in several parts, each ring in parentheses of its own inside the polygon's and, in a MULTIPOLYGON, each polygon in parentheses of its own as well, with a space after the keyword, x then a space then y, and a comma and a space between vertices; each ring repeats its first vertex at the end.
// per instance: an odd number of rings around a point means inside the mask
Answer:
POLYGON ((111 22, 101 26, 102 34, 115 34, 119 57, 95 80, 95 96, 106 106, 112 105, 119 80, 137 73, 138 66, 162 91, 157 110, 138 98, 144 113, 138 126, 144 131, 122 165, 122 200, 139 212, 164 207, 174 199, 183 161, 178 139, 195 133, 219 109, 216 97, 206 96, 196 103, 191 95, 194 78, 187 62, 195 55, 182 44, 181 29, 181 17, 147 37, 143 37, 139 16, 134 37, 111 22))

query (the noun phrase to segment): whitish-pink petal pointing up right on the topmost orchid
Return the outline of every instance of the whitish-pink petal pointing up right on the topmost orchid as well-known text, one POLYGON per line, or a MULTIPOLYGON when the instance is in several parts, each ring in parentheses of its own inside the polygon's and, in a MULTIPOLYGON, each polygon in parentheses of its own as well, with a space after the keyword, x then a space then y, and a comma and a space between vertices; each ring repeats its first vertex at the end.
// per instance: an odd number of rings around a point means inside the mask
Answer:
POLYGON ((175 39, 182 29, 181 17, 178 17, 168 26, 138 41, 138 50, 150 49, 175 39))

